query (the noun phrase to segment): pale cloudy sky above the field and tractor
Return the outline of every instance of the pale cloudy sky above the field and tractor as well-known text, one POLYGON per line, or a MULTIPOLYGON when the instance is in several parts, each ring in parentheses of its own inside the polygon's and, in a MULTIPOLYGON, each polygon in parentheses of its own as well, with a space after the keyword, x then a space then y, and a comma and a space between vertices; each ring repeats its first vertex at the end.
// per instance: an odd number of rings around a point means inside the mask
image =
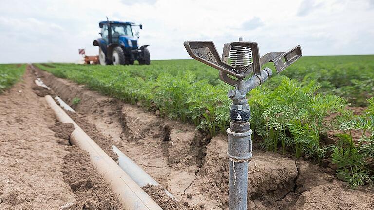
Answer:
POLYGON ((374 54, 374 0, 0 0, 0 63, 79 62, 97 55, 98 22, 141 23, 153 60, 190 58, 183 41, 259 44, 260 55, 374 54))

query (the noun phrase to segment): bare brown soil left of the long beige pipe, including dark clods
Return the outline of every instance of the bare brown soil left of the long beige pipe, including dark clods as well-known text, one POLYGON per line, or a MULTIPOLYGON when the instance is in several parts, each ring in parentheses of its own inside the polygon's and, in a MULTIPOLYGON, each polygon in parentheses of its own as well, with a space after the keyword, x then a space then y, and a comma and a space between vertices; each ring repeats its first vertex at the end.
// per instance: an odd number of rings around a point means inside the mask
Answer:
POLYGON ((42 97, 54 95, 23 80, 0 95, 1 210, 117 210, 121 208, 87 153, 71 146, 74 126, 55 122, 42 97))

